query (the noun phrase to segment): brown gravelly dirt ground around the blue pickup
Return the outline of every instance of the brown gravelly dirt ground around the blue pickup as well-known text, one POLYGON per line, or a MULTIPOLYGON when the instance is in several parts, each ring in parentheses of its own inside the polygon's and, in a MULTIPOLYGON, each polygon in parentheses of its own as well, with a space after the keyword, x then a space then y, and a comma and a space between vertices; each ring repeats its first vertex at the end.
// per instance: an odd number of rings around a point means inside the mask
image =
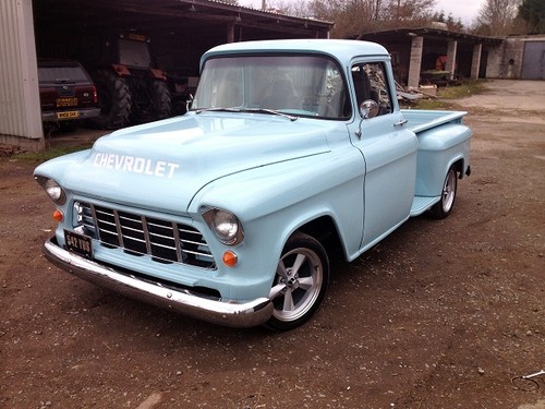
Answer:
POLYGON ((460 99, 473 173, 453 214, 332 265, 314 318, 230 329, 49 265, 36 164, 0 159, 1 408, 545 408, 545 82, 460 99))

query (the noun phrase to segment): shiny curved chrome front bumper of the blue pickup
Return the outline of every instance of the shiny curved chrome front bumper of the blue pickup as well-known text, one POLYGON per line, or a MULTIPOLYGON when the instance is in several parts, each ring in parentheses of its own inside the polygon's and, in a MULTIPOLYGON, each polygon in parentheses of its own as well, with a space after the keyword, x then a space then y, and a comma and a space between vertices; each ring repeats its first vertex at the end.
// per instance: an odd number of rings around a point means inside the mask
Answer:
POLYGON ((238 304, 201 297, 189 290, 162 287, 69 252, 60 248, 55 238, 46 241, 44 254, 52 264, 74 276, 197 320, 232 327, 252 327, 264 324, 272 314, 272 303, 268 298, 238 304))

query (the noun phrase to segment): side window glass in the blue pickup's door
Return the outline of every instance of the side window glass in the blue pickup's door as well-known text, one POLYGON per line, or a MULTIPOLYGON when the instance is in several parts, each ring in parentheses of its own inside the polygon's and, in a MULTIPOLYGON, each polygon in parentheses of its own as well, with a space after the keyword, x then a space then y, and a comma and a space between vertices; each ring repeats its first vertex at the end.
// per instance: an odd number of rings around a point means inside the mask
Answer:
POLYGON ((391 112, 391 97, 388 77, 382 62, 359 63, 352 67, 358 106, 366 99, 378 104, 378 116, 391 112))

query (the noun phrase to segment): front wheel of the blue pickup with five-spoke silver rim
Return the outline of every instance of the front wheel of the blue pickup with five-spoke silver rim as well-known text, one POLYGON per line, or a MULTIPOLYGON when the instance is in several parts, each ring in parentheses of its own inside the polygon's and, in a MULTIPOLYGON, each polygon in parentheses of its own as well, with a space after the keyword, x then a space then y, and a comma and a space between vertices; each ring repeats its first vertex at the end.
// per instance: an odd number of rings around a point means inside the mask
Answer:
POLYGON ((270 289, 274 304, 267 326, 295 328, 318 309, 329 281, 329 261, 323 245, 304 233, 293 234, 278 262, 270 289))

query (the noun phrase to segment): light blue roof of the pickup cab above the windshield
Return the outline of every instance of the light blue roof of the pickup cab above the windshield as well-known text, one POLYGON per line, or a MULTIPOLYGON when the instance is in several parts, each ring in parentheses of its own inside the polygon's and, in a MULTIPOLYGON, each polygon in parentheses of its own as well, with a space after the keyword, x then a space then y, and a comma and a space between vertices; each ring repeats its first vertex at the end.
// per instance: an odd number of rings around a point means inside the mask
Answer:
POLYGON ((230 43, 214 47, 201 58, 201 69, 204 62, 213 57, 259 53, 259 52, 317 52, 337 59, 342 65, 349 65, 354 57, 382 56, 388 57, 388 51, 376 43, 351 39, 279 39, 261 41, 230 43))

